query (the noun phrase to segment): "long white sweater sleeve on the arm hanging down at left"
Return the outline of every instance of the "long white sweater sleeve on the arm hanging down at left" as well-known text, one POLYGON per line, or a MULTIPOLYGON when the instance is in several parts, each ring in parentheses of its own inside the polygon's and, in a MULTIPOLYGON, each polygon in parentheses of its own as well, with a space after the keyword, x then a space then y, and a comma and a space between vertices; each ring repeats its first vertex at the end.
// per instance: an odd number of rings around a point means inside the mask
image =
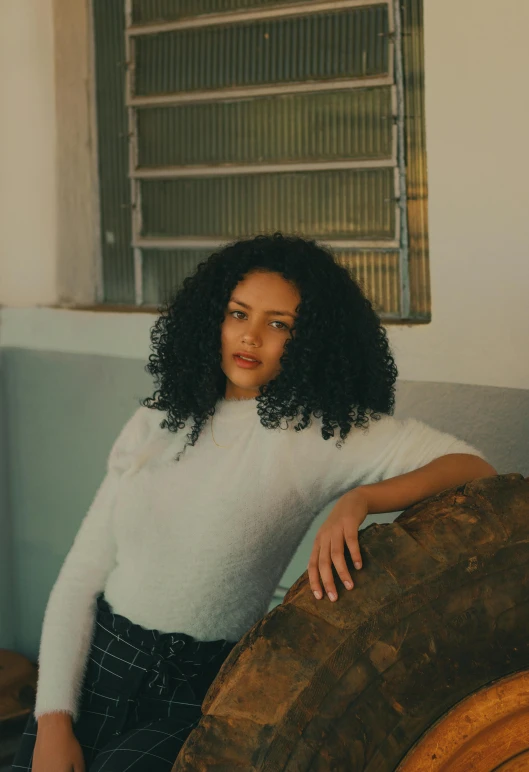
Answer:
POLYGON ((106 475, 51 591, 39 651, 35 717, 64 711, 74 720, 94 626, 95 600, 115 564, 112 509, 123 472, 146 434, 140 407, 110 451, 106 475))

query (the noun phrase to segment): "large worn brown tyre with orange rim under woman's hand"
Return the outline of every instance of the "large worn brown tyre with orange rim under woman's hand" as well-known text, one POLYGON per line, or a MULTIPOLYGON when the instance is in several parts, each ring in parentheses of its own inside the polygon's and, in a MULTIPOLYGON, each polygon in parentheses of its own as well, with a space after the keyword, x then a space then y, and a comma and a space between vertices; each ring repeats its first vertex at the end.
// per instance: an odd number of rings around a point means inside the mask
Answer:
POLYGON ((360 544, 354 590, 317 601, 305 573, 243 636, 173 772, 526 768, 529 480, 445 492, 360 544))

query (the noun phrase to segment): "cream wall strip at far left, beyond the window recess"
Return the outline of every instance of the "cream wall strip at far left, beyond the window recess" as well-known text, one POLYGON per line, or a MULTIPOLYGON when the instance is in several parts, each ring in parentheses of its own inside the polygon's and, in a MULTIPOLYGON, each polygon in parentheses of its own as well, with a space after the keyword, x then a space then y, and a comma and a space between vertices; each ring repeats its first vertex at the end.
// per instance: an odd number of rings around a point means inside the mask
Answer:
POLYGON ((57 298, 52 0, 0 0, 0 305, 57 298))

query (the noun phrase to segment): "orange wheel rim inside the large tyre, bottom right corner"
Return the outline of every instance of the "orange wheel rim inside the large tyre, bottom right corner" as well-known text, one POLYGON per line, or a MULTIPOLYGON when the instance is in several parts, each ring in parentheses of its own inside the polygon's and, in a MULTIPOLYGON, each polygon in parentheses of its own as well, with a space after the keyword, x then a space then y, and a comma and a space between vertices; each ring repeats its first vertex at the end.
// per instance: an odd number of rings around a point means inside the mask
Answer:
POLYGON ((475 692, 437 721, 397 772, 529 769, 529 670, 475 692))

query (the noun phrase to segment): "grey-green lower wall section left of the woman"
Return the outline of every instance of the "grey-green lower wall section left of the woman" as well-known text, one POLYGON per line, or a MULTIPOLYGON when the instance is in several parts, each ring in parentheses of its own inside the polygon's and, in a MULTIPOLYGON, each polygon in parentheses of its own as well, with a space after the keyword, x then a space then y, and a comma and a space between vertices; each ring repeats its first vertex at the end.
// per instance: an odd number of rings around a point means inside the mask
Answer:
POLYGON ((139 360, 5 352, 16 646, 34 657, 49 592, 150 376, 139 360))

